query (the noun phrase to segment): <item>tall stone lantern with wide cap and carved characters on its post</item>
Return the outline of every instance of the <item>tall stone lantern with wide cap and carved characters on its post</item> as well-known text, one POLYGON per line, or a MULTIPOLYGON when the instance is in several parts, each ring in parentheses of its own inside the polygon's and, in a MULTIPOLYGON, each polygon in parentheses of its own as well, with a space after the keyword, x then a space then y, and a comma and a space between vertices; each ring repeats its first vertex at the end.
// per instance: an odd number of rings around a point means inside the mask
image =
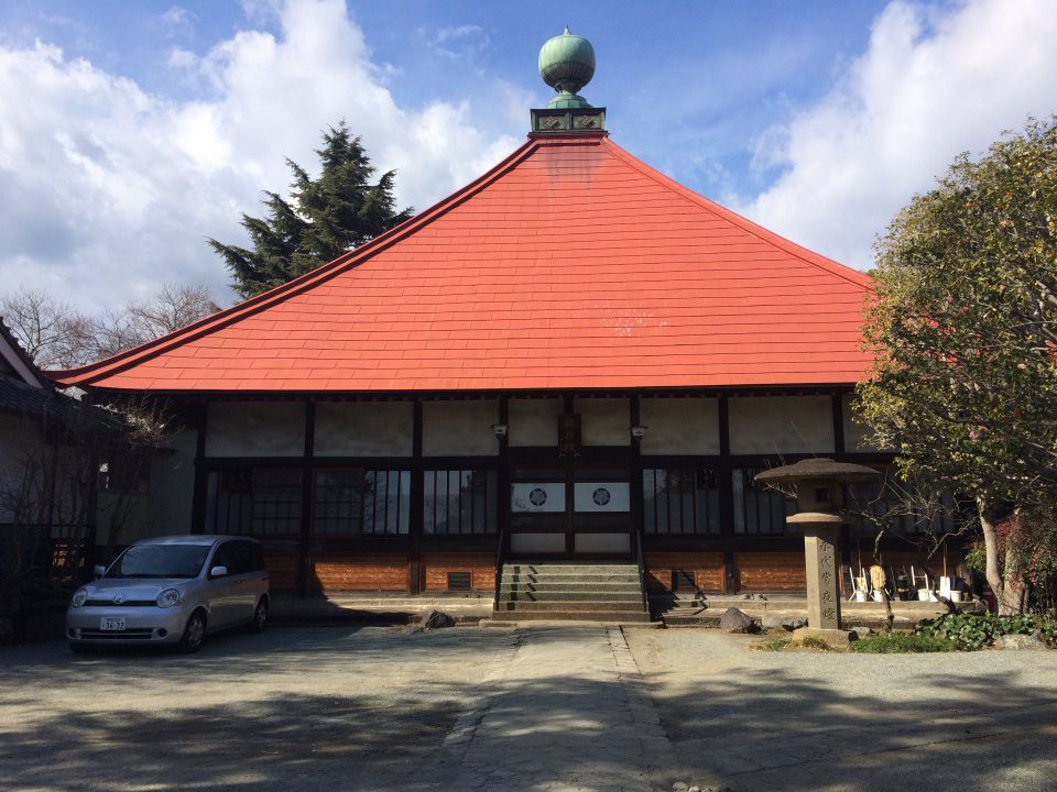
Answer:
POLYGON ((799 512, 787 521, 804 528, 808 623, 805 632, 808 635, 835 642, 844 642, 850 637, 840 629, 838 591, 837 538, 844 522, 841 514, 844 508, 843 485, 875 481, 879 475, 878 471, 864 465, 831 459, 806 459, 773 468, 755 477, 758 484, 793 484, 796 487, 799 512))

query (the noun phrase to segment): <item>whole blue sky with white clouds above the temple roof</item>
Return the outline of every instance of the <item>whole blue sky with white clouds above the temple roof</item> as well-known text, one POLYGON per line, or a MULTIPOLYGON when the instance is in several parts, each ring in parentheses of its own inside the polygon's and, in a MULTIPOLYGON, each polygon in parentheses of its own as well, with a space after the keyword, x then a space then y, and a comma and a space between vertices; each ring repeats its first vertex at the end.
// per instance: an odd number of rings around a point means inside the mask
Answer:
POLYGON ((345 118, 424 208, 515 147, 540 45, 592 42, 615 142, 860 268, 954 156, 1057 110, 1047 0, 0 4, 0 294, 98 310, 227 274, 204 238, 345 118))

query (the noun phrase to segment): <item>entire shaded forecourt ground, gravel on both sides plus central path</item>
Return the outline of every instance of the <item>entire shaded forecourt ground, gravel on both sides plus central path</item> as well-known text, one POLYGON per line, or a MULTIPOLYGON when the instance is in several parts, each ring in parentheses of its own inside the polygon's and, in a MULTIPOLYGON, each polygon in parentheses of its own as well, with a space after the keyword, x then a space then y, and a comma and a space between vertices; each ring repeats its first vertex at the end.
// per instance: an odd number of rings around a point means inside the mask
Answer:
POLYGON ((1057 652, 747 644, 314 626, 190 657, 9 648, 0 791, 1057 790, 1057 652))

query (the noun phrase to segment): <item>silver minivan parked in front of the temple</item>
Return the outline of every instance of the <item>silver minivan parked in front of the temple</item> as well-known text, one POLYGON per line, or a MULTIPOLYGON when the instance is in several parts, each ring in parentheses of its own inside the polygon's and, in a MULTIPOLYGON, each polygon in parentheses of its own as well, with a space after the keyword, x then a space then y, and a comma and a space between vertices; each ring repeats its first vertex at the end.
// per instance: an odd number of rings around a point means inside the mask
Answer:
POLYGON ((70 649, 178 645, 197 651, 208 632, 268 623, 261 546, 230 536, 175 536, 130 546, 66 608, 70 649))

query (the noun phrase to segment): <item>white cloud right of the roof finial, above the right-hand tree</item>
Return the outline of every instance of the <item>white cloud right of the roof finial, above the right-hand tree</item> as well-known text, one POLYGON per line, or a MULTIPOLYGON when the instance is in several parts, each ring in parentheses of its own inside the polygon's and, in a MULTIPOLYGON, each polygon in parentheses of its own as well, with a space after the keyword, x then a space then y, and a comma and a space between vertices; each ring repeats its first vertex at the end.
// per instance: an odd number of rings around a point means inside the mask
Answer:
POLYGON ((833 90, 760 141, 756 164, 784 170, 740 211, 870 266, 875 235, 958 153, 1057 110, 1055 41, 1049 0, 980 0, 946 13, 891 3, 833 90))

